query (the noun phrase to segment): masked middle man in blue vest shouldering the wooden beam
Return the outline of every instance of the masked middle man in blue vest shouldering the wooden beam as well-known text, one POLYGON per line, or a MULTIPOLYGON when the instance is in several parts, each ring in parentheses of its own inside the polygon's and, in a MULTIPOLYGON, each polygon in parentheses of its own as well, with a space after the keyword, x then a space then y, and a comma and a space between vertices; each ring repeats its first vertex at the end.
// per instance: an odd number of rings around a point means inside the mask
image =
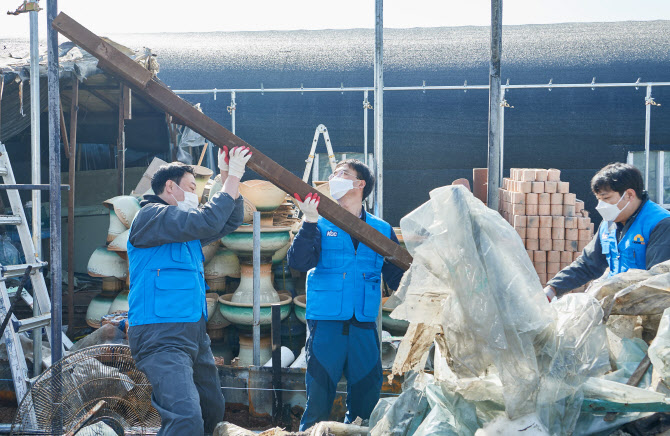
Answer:
MULTIPOLYGON (((340 162, 330 176, 337 202, 398 243, 390 224, 367 213, 363 200, 374 177, 362 162, 340 162)), ((303 224, 288 250, 291 268, 307 273, 307 405, 300 421, 304 431, 327 420, 342 374, 347 379, 349 423, 370 418, 382 385, 380 345, 375 321, 381 303, 381 275, 397 289, 403 271, 381 255, 319 216, 320 197, 295 194, 303 224)))

